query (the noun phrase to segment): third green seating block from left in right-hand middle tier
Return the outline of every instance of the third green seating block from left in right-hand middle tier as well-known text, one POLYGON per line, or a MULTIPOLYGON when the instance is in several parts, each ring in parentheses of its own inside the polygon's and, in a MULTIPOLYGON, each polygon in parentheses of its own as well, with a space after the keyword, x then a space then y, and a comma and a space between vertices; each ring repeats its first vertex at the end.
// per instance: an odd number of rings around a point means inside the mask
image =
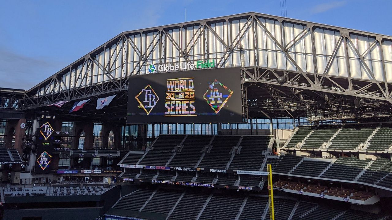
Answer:
POLYGON ((355 157, 339 157, 321 177, 354 181, 368 163, 355 157))

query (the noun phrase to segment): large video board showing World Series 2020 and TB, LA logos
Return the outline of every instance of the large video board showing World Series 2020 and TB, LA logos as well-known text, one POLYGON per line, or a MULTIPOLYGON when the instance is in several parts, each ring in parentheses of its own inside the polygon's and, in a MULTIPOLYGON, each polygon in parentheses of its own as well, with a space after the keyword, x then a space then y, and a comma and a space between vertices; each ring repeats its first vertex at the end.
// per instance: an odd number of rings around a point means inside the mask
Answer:
POLYGON ((151 73, 129 82, 129 124, 242 121, 240 68, 151 73))

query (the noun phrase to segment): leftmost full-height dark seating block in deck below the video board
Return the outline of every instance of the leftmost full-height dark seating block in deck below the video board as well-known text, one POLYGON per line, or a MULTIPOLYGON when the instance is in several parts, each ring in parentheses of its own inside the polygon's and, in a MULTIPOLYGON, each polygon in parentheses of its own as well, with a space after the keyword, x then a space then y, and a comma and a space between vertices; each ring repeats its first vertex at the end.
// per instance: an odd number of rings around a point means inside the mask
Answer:
POLYGON ((165 166, 174 148, 185 138, 183 135, 160 135, 138 165, 165 166))

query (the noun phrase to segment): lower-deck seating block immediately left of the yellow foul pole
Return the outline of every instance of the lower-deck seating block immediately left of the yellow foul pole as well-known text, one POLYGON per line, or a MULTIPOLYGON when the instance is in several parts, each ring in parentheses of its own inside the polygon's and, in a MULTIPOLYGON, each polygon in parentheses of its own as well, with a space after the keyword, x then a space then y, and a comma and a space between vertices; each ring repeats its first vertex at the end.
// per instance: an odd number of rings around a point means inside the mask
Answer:
POLYGON ((267 203, 267 197, 248 197, 239 219, 261 219, 267 203))

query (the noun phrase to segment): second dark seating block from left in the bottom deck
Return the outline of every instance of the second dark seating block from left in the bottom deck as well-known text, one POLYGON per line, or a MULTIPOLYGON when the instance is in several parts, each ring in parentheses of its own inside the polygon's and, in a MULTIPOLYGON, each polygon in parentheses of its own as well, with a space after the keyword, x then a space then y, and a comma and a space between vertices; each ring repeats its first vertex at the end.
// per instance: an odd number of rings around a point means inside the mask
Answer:
POLYGON ((158 190, 142 211, 169 214, 169 211, 176 204, 180 196, 180 191, 158 190))

